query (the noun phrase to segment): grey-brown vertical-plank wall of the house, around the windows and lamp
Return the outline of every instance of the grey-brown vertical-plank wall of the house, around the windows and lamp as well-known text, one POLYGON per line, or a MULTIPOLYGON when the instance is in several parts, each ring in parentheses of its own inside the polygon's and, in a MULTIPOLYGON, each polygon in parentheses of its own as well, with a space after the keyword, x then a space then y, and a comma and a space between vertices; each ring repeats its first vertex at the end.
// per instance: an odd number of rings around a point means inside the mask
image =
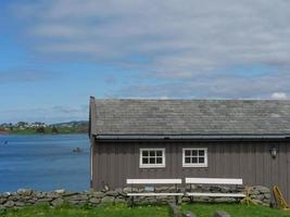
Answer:
POLYGON ((277 184, 290 201, 290 141, 97 141, 92 188, 126 187, 127 178, 242 178, 244 186, 277 184), (276 158, 269 150, 278 149, 276 158), (139 149, 165 148, 165 168, 139 168, 139 149), (207 148, 209 167, 184 168, 182 148, 207 148))

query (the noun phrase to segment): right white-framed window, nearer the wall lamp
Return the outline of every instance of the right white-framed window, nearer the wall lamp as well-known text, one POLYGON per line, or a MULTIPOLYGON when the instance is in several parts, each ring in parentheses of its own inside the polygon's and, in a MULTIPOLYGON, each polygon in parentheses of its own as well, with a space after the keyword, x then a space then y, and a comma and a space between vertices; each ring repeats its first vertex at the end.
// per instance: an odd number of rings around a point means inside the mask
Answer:
POLYGON ((207 149, 190 148, 182 149, 184 167, 207 167, 207 149))

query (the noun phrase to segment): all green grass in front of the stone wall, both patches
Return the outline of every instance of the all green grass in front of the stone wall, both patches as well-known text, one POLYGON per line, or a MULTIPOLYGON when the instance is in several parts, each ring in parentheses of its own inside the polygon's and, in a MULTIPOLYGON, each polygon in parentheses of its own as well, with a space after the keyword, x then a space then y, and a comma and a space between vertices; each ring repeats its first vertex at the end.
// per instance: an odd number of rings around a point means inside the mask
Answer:
MULTIPOLYGON (((191 210, 198 217, 212 217, 216 210, 225 210, 232 217, 290 217, 290 213, 240 204, 185 204, 182 210, 191 210)), ((49 206, 27 206, 21 209, 0 210, 0 217, 169 217, 168 206, 135 206, 125 204, 105 205, 97 208, 63 205, 56 208, 49 206)))

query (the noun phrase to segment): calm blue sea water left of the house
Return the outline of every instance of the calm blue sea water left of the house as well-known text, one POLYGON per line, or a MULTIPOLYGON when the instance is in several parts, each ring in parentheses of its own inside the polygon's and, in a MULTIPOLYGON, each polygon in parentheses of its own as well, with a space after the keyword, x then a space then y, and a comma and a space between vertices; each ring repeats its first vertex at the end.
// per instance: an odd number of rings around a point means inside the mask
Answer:
POLYGON ((88 136, 0 136, 0 192, 18 188, 88 190, 88 136))

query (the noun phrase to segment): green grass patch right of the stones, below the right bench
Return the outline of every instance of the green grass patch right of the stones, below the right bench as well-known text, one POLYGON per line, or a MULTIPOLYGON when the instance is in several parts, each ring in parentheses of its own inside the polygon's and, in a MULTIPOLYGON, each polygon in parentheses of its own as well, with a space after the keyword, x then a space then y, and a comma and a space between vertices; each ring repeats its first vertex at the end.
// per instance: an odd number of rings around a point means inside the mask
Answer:
POLYGON ((290 217, 290 212, 241 204, 185 204, 182 210, 191 210, 199 217, 212 217, 216 210, 225 210, 232 217, 290 217))

